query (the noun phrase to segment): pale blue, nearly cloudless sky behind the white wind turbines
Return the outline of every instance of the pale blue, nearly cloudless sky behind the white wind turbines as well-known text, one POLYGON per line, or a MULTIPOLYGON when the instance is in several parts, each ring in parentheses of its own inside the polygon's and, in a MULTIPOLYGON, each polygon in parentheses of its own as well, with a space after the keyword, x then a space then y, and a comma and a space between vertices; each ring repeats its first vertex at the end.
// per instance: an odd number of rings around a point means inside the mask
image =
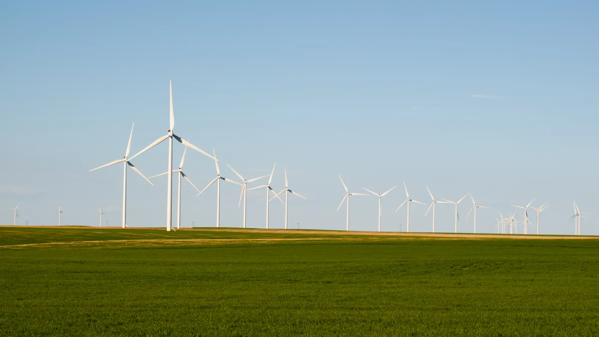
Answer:
MULTIPOLYGON (((288 168, 308 197, 290 196, 290 224, 344 229, 341 174, 353 192, 398 185, 385 231, 406 229, 406 209, 394 213, 406 180, 425 203, 426 185, 436 198, 471 192, 491 207, 479 231, 536 198, 549 206, 541 233, 573 233, 576 199, 582 233, 599 234, 597 17, 597 1, 4 1, 0 223, 20 203, 19 224, 56 224, 62 203, 63 224, 98 225, 101 206, 119 225, 122 166, 88 170, 122 158, 133 122, 132 153, 166 134, 173 80, 175 133, 216 149, 223 176, 236 178, 225 164, 251 178, 276 162, 280 190, 288 168)), ((213 162, 188 152, 201 189, 213 162)), ((134 164, 166 171, 167 145, 134 164)), ((129 171, 129 225, 165 225, 161 178, 129 171)), ((239 192, 222 184, 223 226, 241 226, 239 192)), ((182 194, 184 225, 214 224, 215 187, 182 194)), ((264 227, 264 191, 248 196, 249 226, 264 227)), ((459 231, 473 230, 470 207, 459 231)), ((273 200, 271 227, 283 210, 273 200)), ((352 229, 376 230, 376 197, 350 210, 352 229)), ((411 230, 431 230, 425 211, 412 204, 411 230)), ((453 206, 438 205, 437 230, 453 231, 453 206)))

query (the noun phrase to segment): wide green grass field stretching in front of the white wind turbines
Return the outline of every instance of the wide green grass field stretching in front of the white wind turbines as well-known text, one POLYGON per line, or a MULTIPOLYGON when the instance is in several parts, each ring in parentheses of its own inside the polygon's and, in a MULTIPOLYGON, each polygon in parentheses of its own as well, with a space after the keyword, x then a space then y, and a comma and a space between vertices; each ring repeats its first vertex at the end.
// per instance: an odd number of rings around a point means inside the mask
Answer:
POLYGON ((599 335, 599 240, 0 227, 0 246, 0 335, 599 335), (279 237, 306 240, 244 240, 279 237))

